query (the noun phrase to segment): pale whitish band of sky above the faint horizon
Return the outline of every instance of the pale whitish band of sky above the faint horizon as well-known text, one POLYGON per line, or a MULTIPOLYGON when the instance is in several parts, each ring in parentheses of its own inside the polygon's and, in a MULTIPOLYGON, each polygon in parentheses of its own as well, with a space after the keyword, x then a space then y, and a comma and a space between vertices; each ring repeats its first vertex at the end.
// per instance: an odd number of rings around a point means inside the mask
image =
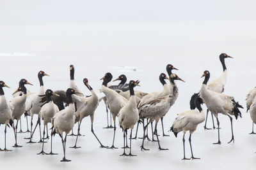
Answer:
POLYGON ((255 20, 256 2, 247 1, 1 1, 1 25, 182 20, 255 20))

